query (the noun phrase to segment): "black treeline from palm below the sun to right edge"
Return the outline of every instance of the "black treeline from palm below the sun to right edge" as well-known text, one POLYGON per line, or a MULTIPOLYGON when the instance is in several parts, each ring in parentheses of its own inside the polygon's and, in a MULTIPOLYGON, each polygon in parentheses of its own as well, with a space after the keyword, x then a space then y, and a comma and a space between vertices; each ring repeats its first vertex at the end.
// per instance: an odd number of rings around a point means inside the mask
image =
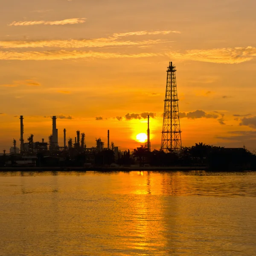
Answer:
POLYGON ((133 156, 140 166, 206 166, 211 170, 255 170, 256 155, 245 148, 224 148, 203 143, 183 147, 179 153, 161 150, 149 152, 141 146, 134 149, 133 156))

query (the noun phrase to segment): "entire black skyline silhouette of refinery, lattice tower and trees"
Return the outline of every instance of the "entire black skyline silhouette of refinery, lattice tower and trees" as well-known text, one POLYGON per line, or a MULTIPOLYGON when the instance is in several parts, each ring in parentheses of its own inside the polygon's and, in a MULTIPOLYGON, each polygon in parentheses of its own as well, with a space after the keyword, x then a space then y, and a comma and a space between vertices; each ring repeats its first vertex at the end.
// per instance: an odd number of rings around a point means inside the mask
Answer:
MULTIPOLYGON (((85 134, 76 131, 75 141, 67 141, 67 129, 63 128, 63 146, 58 141, 57 117, 52 116, 52 134, 48 142, 34 142, 34 135, 30 134, 28 142, 24 142, 23 116, 20 116, 20 148, 13 139, 10 154, 3 151, 0 156, 0 167, 11 168, 82 168, 96 170, 112 168, 127 170, 143 168, 148 170, 184 169, 184 170, 245 170, 256 169, 256 156, 245 148, 221 148, 195 143, 192 147, 182 147, 180 116, 177 96, 176 67, 169 62, 167 67, 166 93, 164 99, 163 129, 160 150, 151 151, 150 116, 148 115, 147 141, 145 145, 130 150, 120 151, 113 142, 110 143, 108 130, 108 144, 101 138, 96 138, 96 145, 87 148, 85 134), (133 166, 133 167, 131 167, 133 166)), ((62 143, 61 143, 62 145, 62 143)))

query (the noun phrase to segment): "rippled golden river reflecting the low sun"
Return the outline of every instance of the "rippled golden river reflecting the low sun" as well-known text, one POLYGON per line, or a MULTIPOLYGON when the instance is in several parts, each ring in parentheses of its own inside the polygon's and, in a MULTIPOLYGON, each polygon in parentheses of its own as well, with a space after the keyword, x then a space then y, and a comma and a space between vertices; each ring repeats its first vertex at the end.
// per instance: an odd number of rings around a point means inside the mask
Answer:
POLYGON ((253 256, 256 172, 0 172, 1 256, 253 256))

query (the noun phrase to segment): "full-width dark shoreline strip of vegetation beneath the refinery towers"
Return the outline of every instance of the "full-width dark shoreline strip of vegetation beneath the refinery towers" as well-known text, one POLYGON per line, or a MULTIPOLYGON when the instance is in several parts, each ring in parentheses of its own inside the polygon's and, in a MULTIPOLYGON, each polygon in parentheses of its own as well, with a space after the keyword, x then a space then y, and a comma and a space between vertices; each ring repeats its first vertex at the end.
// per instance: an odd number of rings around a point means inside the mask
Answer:
POLYGON ((143 145, 115 154, 111 149, 87 151, 29 151, 0 156, 0 172, 8 171, 252 171, 256 155, 246 148, 223 148, 203 143, 183 147, 177 154, 149 151, 143 145))

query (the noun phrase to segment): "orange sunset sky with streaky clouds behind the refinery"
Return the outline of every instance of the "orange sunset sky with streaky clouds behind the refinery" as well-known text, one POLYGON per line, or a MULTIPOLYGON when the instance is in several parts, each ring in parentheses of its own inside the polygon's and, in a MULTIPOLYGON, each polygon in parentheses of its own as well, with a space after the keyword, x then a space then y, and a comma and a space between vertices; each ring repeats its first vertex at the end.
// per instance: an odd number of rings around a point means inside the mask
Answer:
POLYGON ((183 146, 256 148, 255 0, 1 0, 0 150, 85 133, 159 149, 166 70, 177 68, 183 146))

